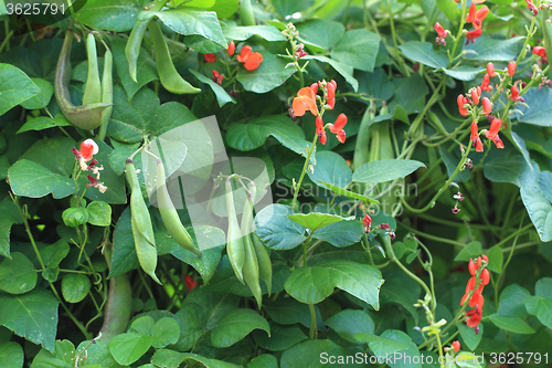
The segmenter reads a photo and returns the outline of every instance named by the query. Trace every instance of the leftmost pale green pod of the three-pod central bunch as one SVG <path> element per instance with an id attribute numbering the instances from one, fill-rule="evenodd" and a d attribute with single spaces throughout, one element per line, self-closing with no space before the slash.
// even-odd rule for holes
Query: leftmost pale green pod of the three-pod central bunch
<path id="1" fill-rule="evenodd" d="M 242 284 L 244 282 L 243 269 L 245 263 L 245 245 L 237 223 L 237 214 L 234 207 L 234 194 L 232 190 L 232 178 L 227 178 L 225 182 L 226 189 L 226 209 L 229 212 L 229 231 L 226 233 L 226 253 L 229 254 L 230 264 L 234 269 L 237 280 Z"/>

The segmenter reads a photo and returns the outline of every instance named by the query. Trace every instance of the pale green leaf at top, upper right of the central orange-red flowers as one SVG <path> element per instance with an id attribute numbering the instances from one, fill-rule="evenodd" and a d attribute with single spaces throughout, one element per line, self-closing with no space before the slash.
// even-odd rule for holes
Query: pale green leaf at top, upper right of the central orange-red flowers
<path id="1" fill-rule="evenodd" d="M 331 51 L 331 57 L 352 67 L 373 72 L 380 35 L 364 29 L 347 31 Z"/>

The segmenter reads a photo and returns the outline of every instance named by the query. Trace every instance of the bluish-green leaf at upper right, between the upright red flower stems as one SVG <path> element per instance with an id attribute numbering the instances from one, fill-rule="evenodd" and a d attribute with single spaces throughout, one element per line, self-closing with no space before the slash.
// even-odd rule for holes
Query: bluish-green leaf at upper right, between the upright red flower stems
<path id="1" fill-rule="evenodd" d="M 518 43 L 523 40 L 523 36 L 511 38 L 508 40 L 495 40 L 484 32 L 477 38 L 475 43 L 468 43 L 464 46 L 467 51 L 466 59 L 478 60 L 484 62 L 489 61 L 512 61 L 518 54 Z"/>

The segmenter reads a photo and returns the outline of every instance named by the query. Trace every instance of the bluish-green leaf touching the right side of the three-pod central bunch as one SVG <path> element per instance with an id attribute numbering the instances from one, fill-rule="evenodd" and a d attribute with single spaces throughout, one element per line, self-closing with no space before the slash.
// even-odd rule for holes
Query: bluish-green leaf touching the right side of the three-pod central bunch
<path id="1" fill-rule="evenodd" d="M 288 218 L 293 213 L 291 207 L 285 204 L 270 204 L 257 213 L 256 233 L 265 245 L 274 250 L 287 250 L 307 239 L 306 229 Z"/>

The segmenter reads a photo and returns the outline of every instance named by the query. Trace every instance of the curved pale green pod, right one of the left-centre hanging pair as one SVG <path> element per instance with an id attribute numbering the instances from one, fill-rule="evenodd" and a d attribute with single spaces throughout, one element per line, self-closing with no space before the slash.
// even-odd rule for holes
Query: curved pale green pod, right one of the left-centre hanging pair
<path id="1" fill-rule="evenodd" d="M 193 254 L 201 256 L 201 252 L 193 245 L 192 236 L 185 231 L 180 218 L 172 204 L 172 201 L 167 190 L 167 183 L 164 180 L 164 168 L 163 161 L 161 159 L 157 160 L 157 200 L 159 204 L 159 213 L 161 213 L 161 219 L 163 220 L 164 227 L 171 234 L 172 239 Z"/>

